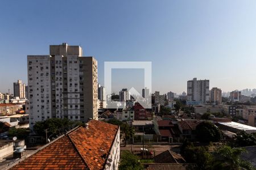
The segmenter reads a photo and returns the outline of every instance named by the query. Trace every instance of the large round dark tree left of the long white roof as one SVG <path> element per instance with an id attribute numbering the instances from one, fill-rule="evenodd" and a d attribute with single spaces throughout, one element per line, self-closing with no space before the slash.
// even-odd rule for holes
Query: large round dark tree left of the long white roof
<path id="1" fill-rule="evenodd" d="M 200 142 L 219 142 L 222 139 L 221 131 L 208 121 L 196 126 L 196 135 Z"/>

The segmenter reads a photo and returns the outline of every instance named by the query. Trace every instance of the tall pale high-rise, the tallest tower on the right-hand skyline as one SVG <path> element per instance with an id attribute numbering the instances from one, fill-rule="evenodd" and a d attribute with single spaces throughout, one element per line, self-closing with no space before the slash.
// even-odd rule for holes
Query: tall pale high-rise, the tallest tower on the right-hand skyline
<path id="1" fill-rule="evenodd" d="M 198 103 L 207 103 L 209 101 L 209 80 L 188 80 L 187 82 L 187 100 Z"/>

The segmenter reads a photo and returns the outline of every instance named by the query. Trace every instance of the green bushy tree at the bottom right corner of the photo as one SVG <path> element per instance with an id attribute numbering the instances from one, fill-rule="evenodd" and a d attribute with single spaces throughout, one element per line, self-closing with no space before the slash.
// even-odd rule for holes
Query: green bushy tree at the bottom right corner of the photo
<path id="1" fill-rule="evenodd" d="M 241 159 L 243 152 L 245 152 L 243 148 L 232 148 L 226 145 L 218 148 L 213 169 L 254 169 L 249 162 Z"/>

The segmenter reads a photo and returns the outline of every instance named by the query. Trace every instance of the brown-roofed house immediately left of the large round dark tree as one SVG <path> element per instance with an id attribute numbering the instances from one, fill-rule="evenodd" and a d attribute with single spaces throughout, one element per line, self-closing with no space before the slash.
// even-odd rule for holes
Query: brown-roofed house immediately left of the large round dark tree
<path id="1" fill-rule="evenodd" d="M 177 123 L 179 130 L 181 132 L 180 138 L 181 139 L 191 139 L 194 140 L 196 138 L 195 130 L 196 126 L 200 124 L 201 121 L 199 120 L 183 120 Z"/>

